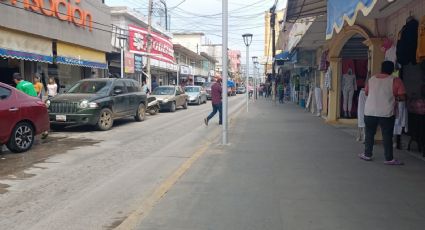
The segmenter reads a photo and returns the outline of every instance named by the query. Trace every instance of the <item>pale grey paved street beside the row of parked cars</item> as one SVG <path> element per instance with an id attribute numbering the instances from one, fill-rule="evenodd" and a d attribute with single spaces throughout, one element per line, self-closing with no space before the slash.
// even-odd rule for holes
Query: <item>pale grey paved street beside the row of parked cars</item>
<path id="1" fill-rule="evenodd" d="M 239 111 L 243 97 L 230 105 Z M 141 123 L 123 120 L 108 132 L 70 129 L 28 153 L 2 155 L 0 229 L 118 226 L 197 149 L 217 142 L 218 118 L 203 124 L 210 110 L 208 103 Z"/>

